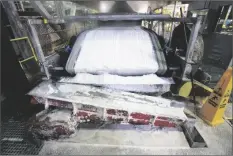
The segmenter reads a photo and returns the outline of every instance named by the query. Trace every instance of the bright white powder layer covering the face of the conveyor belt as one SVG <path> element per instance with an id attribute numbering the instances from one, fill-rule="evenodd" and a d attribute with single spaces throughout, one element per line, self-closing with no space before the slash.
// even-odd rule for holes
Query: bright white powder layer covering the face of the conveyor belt
<path id="1" fill-rule="evenodd" d="M 75 73 L 142 75 L 156 73 L 158 63 L 149 34 L 140 27 L 102 27 L 86 34 L 74 69 Z"/>

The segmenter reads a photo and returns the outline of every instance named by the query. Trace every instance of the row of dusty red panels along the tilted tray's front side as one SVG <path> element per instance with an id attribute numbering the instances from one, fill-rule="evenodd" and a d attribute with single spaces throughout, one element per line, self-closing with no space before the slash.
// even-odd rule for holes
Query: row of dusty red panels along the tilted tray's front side
<path id="1" fill-rule="evenodd" d="M 31 103 L 48 103 L 48 105 L 62 107 L 62 108 L 73 108 L 70 102 L 53 100 L 53 99 L 44 99 L 44 98 L 32 98 Z M 119 123 L 130 123 L 137 125 L 149 125 L 159 127 L 176 127 L 176 123 L 174 119 L 165 117 L 165 116 L 157 116 L 154 117 L 149 114 L 132 112 L 128 113 L 124 110 L 117 109 L 104 109 L 100 107 L 76 104 L 74 109 L 76 109 L 76 116 L 79 122 L 90 122 L 90 121 L 114 121 Z M 105 111 L 105 113 L 104 113 Z M 105 114 L 105 115 L 104 115 Z M 182 122 L 182 121 L 179 121 Z"/>

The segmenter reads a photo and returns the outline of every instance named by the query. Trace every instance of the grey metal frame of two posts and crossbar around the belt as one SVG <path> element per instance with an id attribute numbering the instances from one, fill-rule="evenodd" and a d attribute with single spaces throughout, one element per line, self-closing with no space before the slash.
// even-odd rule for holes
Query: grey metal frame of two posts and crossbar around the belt
<path id="1" fill-rule="evenodd" d="M 195 41 L 198 36 L 199 29 L 201 27 L 201 17 L 198 18 L 172 18 L 170 15 L 162 15 L 162 14 L 126 14 L 126 15 L 109 15 L 109 14 L 91 14 L 86 16 L 74 16 L 74 17 L 66 17 L 64 19 L 46 19 L 46 23 L 50 24 L 64 24 L 75 21 L 85 21 L 85 20 L 102 20 L 102 21 L 122 21 L 122 20 L 158 20 L 158 21 L 171 21 L 171 22 L 191 22 L 194 23 L 192 28 L 192 32 L 189 38 L 188 48 L 186 52 L 185 58 L 185 68 L 182 74 L 182 79 L 187 80 L 186 75 L 191 72 L 190 70 L 190 62 L 191 57 L 193 55 L 193 47 Z M 38 38 L 38 34 L 35 30 L 34 24 L 43 24 L 44 20 L 39 19 L 29 19 L 28 24 L 31 30 L 33 45 L 35 47 L 36 53 L 38 55 L 38 59 L 40 64 L 42 65 L 44 72 L 48 79 L 50 79 L 50 74 L 48 71 L 48 66 L 46 65 L 46 59 L 43 53 L 43 50 L 40 45 L 40 41 Z"/>

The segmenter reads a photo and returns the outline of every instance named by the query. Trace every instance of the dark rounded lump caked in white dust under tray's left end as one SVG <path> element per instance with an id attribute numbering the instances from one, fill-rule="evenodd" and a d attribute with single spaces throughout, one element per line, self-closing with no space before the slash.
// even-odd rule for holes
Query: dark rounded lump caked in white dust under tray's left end
<path id="1" fill-rule="evenodd" d="M 55 109 L 29 125 L 29 133 L 36 139 L 56 140 L 75 133 L 76 121 L 71 110 Z"/>

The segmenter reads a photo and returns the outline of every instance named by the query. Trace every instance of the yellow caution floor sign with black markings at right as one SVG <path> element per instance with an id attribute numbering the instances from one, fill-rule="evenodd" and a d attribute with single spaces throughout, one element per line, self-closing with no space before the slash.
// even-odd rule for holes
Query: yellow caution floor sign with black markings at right
<path id="1" fill-rule="evenodd" d="M 232 67 L 229 67 L 200 111 L 200 117 L 211 126 L 224 122 L 223 116 L 232 91 Z"/>

